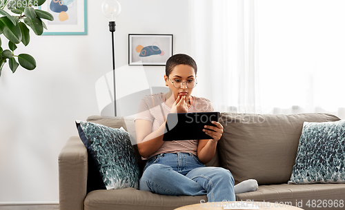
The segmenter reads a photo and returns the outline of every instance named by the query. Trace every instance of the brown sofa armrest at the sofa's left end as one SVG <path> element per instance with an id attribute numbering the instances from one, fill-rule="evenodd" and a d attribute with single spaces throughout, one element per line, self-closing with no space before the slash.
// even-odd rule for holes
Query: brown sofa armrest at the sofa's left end
<path id="1" fill-rule="evenodd" d="M 59 154 L 59 209 L 83 210 L 88 180 L 88 152 L 77 136 Z"/>

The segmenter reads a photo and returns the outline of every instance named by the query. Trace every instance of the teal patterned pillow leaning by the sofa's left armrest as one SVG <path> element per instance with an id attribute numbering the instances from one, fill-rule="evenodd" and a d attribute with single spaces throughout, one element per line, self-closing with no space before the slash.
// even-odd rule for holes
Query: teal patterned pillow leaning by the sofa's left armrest
<path id="1" fill-rule="evenodd" d="M 130 135 L 115 129 L 76 120 L 79 136 L 99 169 L 106 189 L 139 188 L 139 166 Z"/>

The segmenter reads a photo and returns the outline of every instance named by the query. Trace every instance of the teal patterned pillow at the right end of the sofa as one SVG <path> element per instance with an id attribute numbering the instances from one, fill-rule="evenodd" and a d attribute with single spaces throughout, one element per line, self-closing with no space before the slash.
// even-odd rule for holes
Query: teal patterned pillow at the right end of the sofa
<path id="1" fill-rule="evenodd" d="M 303 124 L 288 184 L 345 183 L 345 120 Z"/>

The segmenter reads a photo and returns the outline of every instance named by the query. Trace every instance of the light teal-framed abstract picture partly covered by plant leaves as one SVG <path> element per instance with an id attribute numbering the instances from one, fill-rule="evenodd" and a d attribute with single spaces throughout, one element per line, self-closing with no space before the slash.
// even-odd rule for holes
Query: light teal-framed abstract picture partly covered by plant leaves
<path id="1" fill-rule="evenodd" d="M 54 17 L 54 21 L 42 19 L 48 28 L 42 35 L 88 34 L 86 0 L 47 0 L 39 9 Z"/>

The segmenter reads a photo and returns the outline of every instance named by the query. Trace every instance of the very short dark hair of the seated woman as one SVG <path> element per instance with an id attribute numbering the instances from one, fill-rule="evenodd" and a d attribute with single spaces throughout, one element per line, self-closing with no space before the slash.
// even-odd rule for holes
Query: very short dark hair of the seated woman
<path id="1" fill-rule="evenodd" d="M 169 76 L 175 66 L 184 64 L 193 67 L 195 75 L 197 75 L 197 63 L 187 54 L 174 54 L 166 61 L 166 76 Z"/>

